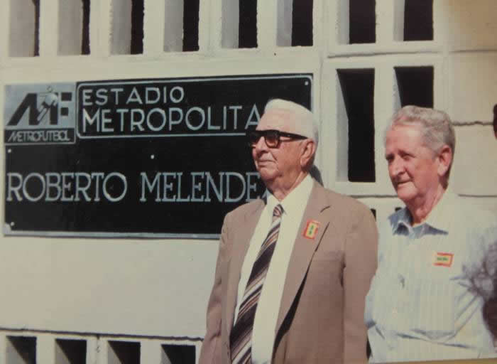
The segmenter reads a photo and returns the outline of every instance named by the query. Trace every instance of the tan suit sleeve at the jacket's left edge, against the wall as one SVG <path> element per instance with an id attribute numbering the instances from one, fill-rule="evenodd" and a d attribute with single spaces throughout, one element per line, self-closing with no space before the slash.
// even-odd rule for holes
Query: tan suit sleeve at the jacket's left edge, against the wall
<path id="1" fill-rule="evenodd" d="M 207 331 L 200 350 L 199 364 L 217 364 L 221 363 L 222 360 L 222 270 L 226 260 L 227 250 L 227 219 L 228 216 L 226 215 L 221 231 L 221 239 L 219 240 L 219 252 L 217 255 L 216 272 L 214 274 L 214 287 L 212 287 L 209 304 L 207 304 Z"/>

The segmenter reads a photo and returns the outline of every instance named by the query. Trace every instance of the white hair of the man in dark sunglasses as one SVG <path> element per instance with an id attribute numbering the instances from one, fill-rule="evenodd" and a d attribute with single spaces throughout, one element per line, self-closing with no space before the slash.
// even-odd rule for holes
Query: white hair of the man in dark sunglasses
<path id="1" fill-rule="evenodd" d="M 304 137 L 312 139 L 317 146 L 320 139 L 319 129 L 314 115 L 309 109 L 295 102 L 282 99 L 269 100 L 266 107 L 264 107 L 264 112 L 266 113 L 271 109 L 281 109 L 291 112 L 297 121 L 295 122 L 295 127 L 298 129 L 298 132 Z"/>

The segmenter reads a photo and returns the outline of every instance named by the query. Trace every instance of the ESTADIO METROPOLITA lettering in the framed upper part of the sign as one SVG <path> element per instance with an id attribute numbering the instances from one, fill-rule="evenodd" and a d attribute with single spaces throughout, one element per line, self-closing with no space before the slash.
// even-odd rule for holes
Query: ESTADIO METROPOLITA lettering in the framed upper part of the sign
<path id="1" fill-rule="evenodd" d="M 181 86 L 84 88 L 81 137 L 243 135 L 261 110 L 250 105 L 195 105 Z"/>

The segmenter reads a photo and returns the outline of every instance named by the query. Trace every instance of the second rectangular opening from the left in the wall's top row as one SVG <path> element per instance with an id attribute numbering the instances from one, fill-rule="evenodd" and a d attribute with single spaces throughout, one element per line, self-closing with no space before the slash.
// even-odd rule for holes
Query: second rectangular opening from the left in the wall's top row
<path id="1" fill-rule="evenodd" d="M 59 55 L 89 54 L 89 1 L 59 0 Z"/>

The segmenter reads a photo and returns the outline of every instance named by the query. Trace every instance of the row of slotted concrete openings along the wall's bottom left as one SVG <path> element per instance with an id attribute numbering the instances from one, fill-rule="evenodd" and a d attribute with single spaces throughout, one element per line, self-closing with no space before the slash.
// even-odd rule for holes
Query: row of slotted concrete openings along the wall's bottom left
<path id="1" fill-rule="evenodd" d="M 3 330 L 2 363 L 194 363 L 201 341 Z"/>

